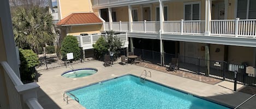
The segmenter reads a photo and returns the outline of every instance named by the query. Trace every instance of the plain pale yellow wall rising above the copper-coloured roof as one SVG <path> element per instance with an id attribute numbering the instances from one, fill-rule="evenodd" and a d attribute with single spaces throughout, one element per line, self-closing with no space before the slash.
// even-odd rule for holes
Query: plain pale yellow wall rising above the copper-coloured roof
<path id="1" fill-rule="evenodd" d="M 58 1 L 58 8 L 60 9 L 61 19 L 68 16 L 72 12 L 92 12 L 92 3 L 90 0 L 73 0 L 73 1 L 57 0 L 57 1 Z"/>

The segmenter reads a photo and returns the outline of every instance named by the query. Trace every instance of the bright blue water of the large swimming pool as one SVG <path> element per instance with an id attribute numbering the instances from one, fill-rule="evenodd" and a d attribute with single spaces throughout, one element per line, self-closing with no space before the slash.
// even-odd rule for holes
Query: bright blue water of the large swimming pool
<path id="1" fill-rule="evenodd" d="M 79 88 L 70 93 L 78 97 L 79 103 L 87 109 L 228 108 L 150 81 L 142 84 L 138 77 L 132 75 Z"/>

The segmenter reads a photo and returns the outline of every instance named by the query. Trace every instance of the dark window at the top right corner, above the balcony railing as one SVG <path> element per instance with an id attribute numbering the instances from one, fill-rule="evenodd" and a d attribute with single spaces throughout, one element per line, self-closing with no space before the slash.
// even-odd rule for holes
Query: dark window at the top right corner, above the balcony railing
<path id="1" fill-rule="evenodd" d="M 245 19 L 256 18 L 256 1 L 255 0 L 237 0 L 236 17 Z"/>

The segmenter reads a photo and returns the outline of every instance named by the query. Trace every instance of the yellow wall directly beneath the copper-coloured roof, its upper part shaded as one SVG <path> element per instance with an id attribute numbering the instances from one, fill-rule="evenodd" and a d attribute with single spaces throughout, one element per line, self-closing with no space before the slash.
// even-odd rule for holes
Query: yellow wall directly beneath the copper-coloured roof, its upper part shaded
<path id="1" fill-rule="evenodd" d="M 80 35 L 81 33 L 87 33 L 87 34 L 100 33 L 101 28 L 102 28 L 102 24 L 72 26 L 71 30 L 68 30 L 67 34 Z"/>

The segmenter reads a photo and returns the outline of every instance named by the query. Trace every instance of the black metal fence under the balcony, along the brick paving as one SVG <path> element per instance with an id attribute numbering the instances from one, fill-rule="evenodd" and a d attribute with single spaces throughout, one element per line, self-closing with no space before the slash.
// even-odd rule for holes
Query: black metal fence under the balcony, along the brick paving
<path id="1" fill-rule="evenodd" d="M 153 64 L 159 65 L 161 61 L 161 53 L 159 52 L 134 49 L 134 54 L 141 56 L 143 61 L 148 61 Z M 234 72 L 237 71 L 237 82 L 256 87 L 255 74 L 249 74 L 246 70 L 248 68 L 246 65 L 163 53 L 164 66 L 168 67 L 172 58 L 178 58 L 179 70 L 228 81 L 234 81 Z"/>

